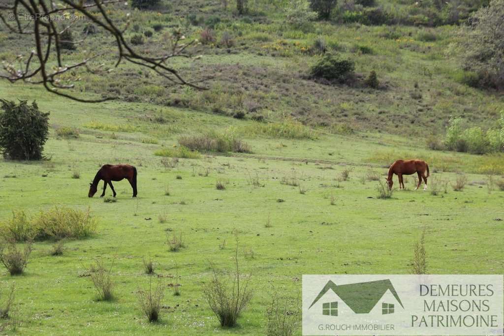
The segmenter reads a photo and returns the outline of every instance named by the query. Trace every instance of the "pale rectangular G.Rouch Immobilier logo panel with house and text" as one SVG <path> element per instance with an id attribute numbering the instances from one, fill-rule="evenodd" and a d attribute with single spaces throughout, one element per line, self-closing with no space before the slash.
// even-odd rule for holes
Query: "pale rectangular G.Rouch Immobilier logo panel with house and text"
<path id="1" fill-rule="evenodd" d="M 304 275 L 303 334 L 503 335 L 503 276 Z"/>

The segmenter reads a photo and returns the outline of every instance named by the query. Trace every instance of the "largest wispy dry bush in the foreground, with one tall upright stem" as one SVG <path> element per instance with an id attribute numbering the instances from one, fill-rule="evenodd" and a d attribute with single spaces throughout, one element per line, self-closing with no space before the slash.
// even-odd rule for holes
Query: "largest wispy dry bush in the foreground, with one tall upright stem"
<path id="1" fill-rule="evenodd" d="M 253 292 L 248 287 L 250 276 L 246 277 L 244 282 L 240 279 L 242 276 L 238 267 L 238 246 L 236 246 L 234 258 L 236 270 L 230 283 L 222 280 L 213 264 L 210 264 L 213 271 L 212 282 L 205 286 L 204 291 L 210 309 L 219 319 L 221 326 L 226 327 L 236 324 L 236 320 L 253 296 Z"/>

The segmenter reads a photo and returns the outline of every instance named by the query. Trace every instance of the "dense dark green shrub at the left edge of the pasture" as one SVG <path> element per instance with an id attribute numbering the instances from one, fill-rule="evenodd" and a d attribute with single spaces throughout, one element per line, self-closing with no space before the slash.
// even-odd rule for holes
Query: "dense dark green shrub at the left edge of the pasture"
<path id="1" fill-rule="evenodd" d="M 35 102 L 19 104 L 1 99 L 0 152 L 12 160 L 40 160 L 49 135 L 49 113 L 38 110 Z"/>

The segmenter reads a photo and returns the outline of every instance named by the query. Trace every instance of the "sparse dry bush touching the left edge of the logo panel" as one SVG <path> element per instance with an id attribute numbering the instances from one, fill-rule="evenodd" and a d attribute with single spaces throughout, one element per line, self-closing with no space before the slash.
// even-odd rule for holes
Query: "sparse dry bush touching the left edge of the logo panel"
<path id="1" fill-rule="evenodd" d="M 266 309 L 266 334 L 268 336 L 292 336 L 300 320 L 299 302 L 273 293 L 273 300 Z"/>

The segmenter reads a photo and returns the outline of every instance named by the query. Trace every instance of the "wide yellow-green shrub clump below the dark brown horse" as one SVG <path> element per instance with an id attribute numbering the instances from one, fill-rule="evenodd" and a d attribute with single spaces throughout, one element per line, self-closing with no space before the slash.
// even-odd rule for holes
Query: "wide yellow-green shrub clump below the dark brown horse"
<path id="1" fill-rule="evenodd" d="M 84 238 L 96 232 L 97 220 L 86 211 L 54 207 L 40 212 L 32 222 L 36 229 L 34 239 Z"/>

